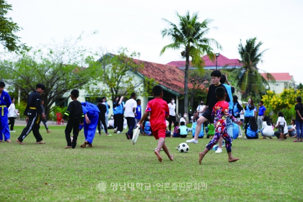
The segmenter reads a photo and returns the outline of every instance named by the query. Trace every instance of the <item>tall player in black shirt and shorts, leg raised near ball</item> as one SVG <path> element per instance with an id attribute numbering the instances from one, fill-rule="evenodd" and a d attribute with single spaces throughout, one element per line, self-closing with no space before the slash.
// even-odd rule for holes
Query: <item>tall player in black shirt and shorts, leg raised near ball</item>
<path id="1" fill-rule="evenodd" d="M 201 124 L 203 124 L 204 122 L 208 121 L 208 120 L 212 120 L 212 110 L 214 108 L 214 106 L 217 104 L 217 102 L 219 101 L 219 99 L 216 96 L 216 89 L 218 87 L 223 87 L 226 91 L 227 94 L 227 90 L 225 88 L 225 86 L 220 83 L 220 79 L 221 79 L 221 72 L 219 70 L 215 70 L 211 73 L 211 77 L 212 77 L 212 85 L 210 85 L 209 87 L 209 91 L 207 93 L 207 101 L 206 101 L 206 108 L 204 108 L 204 113 L 202 114 L 202 116 L 199 117 L 199 119 L 197 120 L 197 126 L 196 126 L 196 130 L 195 130 L 195 135 L 194 138 L 191 140 L 186 140 L 187 143 L 198 143 L 198 136 L 199 133 L 201 131 Z M 226 102 L 230 102 L 229 97 L 226 97 Z"/>

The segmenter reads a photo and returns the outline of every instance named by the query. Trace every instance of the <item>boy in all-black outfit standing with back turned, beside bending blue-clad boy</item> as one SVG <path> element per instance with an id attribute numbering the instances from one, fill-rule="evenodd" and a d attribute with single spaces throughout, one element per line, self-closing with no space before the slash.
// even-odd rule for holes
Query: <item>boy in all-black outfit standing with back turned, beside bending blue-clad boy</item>
<path id="1" fill-rule="evenodd" d="M 77 145 L 77 138 L 79 134 L 79 124 L 83 125 L 84 114 L 82 111 L 82 105 L 77 100 L 79 97 L 79 90 L 74 89 L 71 92 L 72 102 L 67 107 L 67 111 L 64 113 L 63 119 L 61 122 L 64 123 L 64 120 L 69 117 L 65 128 L 65 138 L 67 141 L 67 146 L 65 148 L 75 148 Z M 73 142 L 71 141 L 71 132 L 73 130 Z"/>

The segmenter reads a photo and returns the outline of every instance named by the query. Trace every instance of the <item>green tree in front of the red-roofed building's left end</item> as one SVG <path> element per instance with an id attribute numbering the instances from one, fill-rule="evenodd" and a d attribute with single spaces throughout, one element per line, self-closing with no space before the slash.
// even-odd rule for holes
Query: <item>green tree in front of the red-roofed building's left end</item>
<path id="1" fill-rule="evenodd" d="M 157 84 L 155 79 L 146 78 L 139 73 L 143 70 L 143 63 L 133 59 L 138 53 L 127 55 L 127 49 L 121 48 L 118 54 L 105 54 L 92 64 L 96 69 L 95 80 L 90 80 L 85 89 L 92 98 L 102 95 L 114 99 L 118 95 L 129 95 L 133 91 L 137 95 L 150 95 L 150 89 Z M 139 74 L 143 79 L 136 79 Z M 94 86 L 94 87 L 93 87 Z"/>

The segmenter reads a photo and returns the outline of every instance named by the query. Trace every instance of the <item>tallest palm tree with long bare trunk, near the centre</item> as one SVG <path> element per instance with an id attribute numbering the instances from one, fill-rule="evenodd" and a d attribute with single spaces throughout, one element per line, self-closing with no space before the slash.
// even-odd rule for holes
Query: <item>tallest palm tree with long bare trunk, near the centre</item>
<path id="1" fill-rule="evenodd" d="M 166 51 L 166 48 L 181 49 L 181 57 L 186 59 L 185 62 L 185 75 L 184 75 L 184 112 L 188 113 L 188 68 L 189 68 L 189 57 L 191 57 L 191 65 L 203 68 L 204 60 L 201 58 L 207 54 L 211 60 L 215 59 L 213 48 L 211 45 L 216 45 L 218 49 L 221 49 L 221 45 L 212 38 L 206 38 L 210 31 L 208 27 L 212 22 L 211 19 L 206 19 L 203 22 L 198 22 L 198 15 L 194 13 L 192 16 L 187 11 L 185 16 L 180 16 L 179 24 L 176 25 L 166 19 L 165 20 L 169 27 L 163 29 L 162 36 L 168 36 L 172 39 L 173 43 L 164 46 L 161 50 L 160 55 Z"/>

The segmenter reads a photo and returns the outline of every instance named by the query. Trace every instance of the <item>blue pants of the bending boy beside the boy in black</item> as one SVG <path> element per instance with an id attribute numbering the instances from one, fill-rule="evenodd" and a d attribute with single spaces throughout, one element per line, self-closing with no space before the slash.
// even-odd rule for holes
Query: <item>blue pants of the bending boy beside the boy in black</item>
<path id="1" fill-rule="evenodd" d="M 94 138 L 94 135 L 96 133 L 98 120 L 99 120 L 99 114 L 97 112 L 87 112 L 87 117 L 90 120 L 90 124 L 87 124 L 84 119 L 84 137 L 85 141 L 88 141 L 88 143 L 92 143 L 92 140 Z"/>

